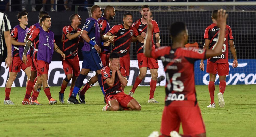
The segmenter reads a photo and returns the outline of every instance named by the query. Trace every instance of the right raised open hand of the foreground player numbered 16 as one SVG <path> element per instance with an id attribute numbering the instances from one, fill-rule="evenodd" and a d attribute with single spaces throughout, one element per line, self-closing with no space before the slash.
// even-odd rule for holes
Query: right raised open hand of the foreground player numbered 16
<path id="1" fill-rule="evenodd" d="M 228 14 L 226 14 L 226 10 L 223 10 L 223 9 L 218 10 L 217 16 L 218 16 L 217 20 L 214 19 L 213 21 L 216 23 L 216 25 L 219 28 L 225 28 L 227 17 L 228 17 Z"/>

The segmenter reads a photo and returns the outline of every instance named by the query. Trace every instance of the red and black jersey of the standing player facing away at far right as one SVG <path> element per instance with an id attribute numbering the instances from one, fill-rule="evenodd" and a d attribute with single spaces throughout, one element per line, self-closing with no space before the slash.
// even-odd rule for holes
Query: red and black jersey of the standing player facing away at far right
<path id="1" fill-rule="evenodd" d="M 220 28 L 213 23 L 210 26 L 208 26 L 205 29 L 205 35 L 204 39 L 209 39 L 210 44 L 209 44 L 209 49 L 213 49 L 216 46 L 216 43 L 218 41 L 218 35 L 219 35 Z M 222 47 L 222 53 L 219 56 L 215 56 L 212 58 L 209 58 L 208 60 L 216 63 L 227 63 L 228 62 L 228 47 L 229 47 L 229 40 L 233 39 L 233 34 L 230 26 L 226 25 L 225 28 L 225 37 L 224 37 L 224 44 Z"/>

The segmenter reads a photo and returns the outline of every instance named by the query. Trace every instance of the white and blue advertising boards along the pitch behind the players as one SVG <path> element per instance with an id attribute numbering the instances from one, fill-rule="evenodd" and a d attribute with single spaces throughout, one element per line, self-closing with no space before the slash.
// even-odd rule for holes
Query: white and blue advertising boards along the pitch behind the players
<path id="1" fill-rule="evenodd" d="M 229 75 L 227 75 L 226 81 L 227 85 L 236 85 L 236 84 L 256 84 L 256 59 L 238 59 L 238 67 L 232 68 L 232 59 L 229 60 Z M 158 80 L 157 86 L 165 86 L 165 72 L 161 60 L 158 60 L 159 69 L 158 69 Z M 130 76 L 128 79 L 128 86 L 134 84 L 136 77 L 139 74 L 138 61 L 130 61 Z M 205 70 L 206 70 L 206 60 L 204 61 Z M 195 71 L 195 84 L 196 85 L 208 85 L 209 74 L 206 71 L 201 71 L 199 69 L 200 60 L 195 62 L 194 71 Z M 82 61 L 80 61 L 80 66 L 82 66 Z M 4 62 L 1 64 L 0 71 L 0 87 L 5 87 L 5 83 L 9 77 L 9 68 L 5 69 Z M 84 84 L 88 81 L 89 78 L 94 76 L 95 72 L 89 72 L 88 77 L 84 80 Z M 61 61 L 53 61 L 49 66 L 49 86 L 61 86 L 63 78 L 65 78 L 64 70 L 62 67 Z M 216 84 L 219 84 L 218 75 L 216 75 Z M 150 84 L 150 71 L 147 71 L 146 77 L 142 80 L 140 86 L 149 86 Z M 12 87 L 25 87 L 27 81 L 27 76 L 23 71 L 20 71 L 12 85 Z M 70 83 L 68 84 L 70 86 Z"/>

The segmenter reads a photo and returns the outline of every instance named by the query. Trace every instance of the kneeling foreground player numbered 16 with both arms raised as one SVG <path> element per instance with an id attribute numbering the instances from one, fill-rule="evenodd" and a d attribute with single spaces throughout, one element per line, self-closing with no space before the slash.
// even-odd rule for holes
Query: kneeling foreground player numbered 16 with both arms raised
<path id="1" fill-rule="evenodd" d="M 224 39 L 225 36 L 227 18 L 225 13 L 226 11 L 222 9 L 218 12 L 216 24 L 220 28 L 219 39 Z M 150 15 L 149 12 L 148 16 Z M 170 28 L 172 46 L 151 49 L 153 24 L 149 17 L 144 53 L 146 57 L 160 58 L 166 73 L 166 97 L 161 136 L 177 134 L 180 123 L 182 123 L 184 136 L 206 136 L 205 125 L 196 99 L 194 62 L 220 55 L 224 41 L 219 40 L 214 49 L 184 48 L 188 40 L 188 30 L 185 23 L 176 22 Z"/>

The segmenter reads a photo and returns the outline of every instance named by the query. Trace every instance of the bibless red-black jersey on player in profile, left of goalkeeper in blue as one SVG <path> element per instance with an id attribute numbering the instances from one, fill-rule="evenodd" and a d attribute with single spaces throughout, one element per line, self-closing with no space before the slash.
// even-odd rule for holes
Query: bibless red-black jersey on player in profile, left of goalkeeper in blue
<path id="1" fill-rule="evenodd" d="M 69 40 L 66 35 L 67 34 L 75 34 L 78 31 L 81 31 L 80 28 L 77 28 L 77 30 L 75 30 L 71 25 L 65 26 L 62 29 L 63 32 L 63 45 L 62 45 L 62 52 L 66 55 L 67 59 L 73 59 L 75 56 L 77 55 L 77 50 L 78 50 L 78 43 L 80 40 L 80 35 L 72 40 Z"/>

